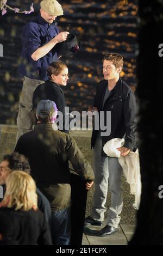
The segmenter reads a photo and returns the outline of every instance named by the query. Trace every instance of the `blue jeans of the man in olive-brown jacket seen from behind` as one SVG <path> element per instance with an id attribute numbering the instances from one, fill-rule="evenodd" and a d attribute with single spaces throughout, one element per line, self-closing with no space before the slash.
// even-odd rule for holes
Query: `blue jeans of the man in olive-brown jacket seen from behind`
<path id="1" fill-rule="evenodd" d="M 53 245 L 70 245 L 71 221 L 70 208 L 52 212 Z"/>

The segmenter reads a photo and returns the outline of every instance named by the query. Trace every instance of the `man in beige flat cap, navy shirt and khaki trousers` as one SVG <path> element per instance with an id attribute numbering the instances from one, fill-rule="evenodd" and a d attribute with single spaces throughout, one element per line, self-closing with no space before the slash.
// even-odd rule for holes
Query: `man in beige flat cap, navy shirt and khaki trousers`
<path id="1" fill-rule="evenodd" d="M 57 16 L 64 15 L 56 0 L 43 0 L 40 14 L 28 22 L 22 29 L 22 51 L 18 73 L 24 77 L 17 117 L 17 139 L 32 130 L 32 97 L 39 84 L 46 81 L 46 70 L 60 57 L 55 45 L 65 41 L 69 32 L 59 33 Z"/>

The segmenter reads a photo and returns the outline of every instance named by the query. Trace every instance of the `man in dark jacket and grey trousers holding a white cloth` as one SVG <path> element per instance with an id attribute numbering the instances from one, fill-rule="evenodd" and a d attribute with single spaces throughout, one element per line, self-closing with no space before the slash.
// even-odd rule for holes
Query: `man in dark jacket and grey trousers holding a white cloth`
<path id="1" fill-rule="evenodd" d="M 111 235 L 118 231 L 117 226 L 122 211 L 122 168 L 117 157 L 108 157 L 103 146 L 112 138 L 123 138 L 125 142 L 121 156 L 136 151 L 135 115 L 136 100 L 134 92 L 120 78 L 123 58 L 120 54 L 109 53 L 103 60 L 104 80 L 99 82 L 96 90 L 93 110 L 99 114 L 99 129 L 93 127 L 91 147 L 94 149 L 95 194 L 91 215 L 86 217 L 85 225 L 102 225 L 105 203 L 108 194 L 108 183 L 111 191 L 111 205 L 108 210 L 106 225 L 98 232 L 99 236 Z M 102 112 L 104 118 L 102 118 Z M 107 114 L 111 119 L 108 122 Z M 110 129 L 109 129 L 110 126 Z M 110 132 L 108 133 L 107 130 Z"/>

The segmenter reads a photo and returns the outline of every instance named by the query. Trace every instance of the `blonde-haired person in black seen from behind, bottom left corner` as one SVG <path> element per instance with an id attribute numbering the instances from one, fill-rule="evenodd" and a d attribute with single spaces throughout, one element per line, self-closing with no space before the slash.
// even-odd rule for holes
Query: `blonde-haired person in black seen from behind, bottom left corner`
<path id="1" fill-rule="evenodd" d="M 51 233 L 43 214 L 37 208 L 33 178 L 22 171 L 11 172 L 6 179 L 7 190 L 0 204 L 0 214 L 12 220 L 10 237 L 18 245 L 52 245 Z"/>

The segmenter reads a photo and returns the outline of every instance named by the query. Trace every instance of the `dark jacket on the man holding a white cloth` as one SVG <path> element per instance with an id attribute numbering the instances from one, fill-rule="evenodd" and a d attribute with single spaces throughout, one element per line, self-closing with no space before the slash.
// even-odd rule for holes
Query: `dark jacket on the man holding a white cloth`
<path id="1" fill-rule="evenodd" d="M 111 125 L 110 135 L 102 136 L 102 156 L 106 156 L 103 151 L 103 146 L 112 138 L 123 138 L 125 136 L 125 143 L 123 147 L 130 149 L 131 151 L 136 151 L 136 139 L 135 139 L 135 117 L 136 117 L 136 99 L 133 90 L 121 80 L 121 78 L 116 83 L 116 86 L 111 90 L 108 99 L 103 105 L 103 99 L 105 95 L 106 87 L 108 86 L 108 81 L 102 80 L 99 82 L 95 101 L 93 106 L 98 108 L 99 119 L 101 117 L 101 111 L 104 111 L 104 125 L 106 125 L 106 112 L 111 113 Z M 109 130 L 109 129 L 108 129 Z M 95 126 L 92 131 L 91 138 L 91 148 L 94 147 L 98 131 L 95 130 Z"/>

